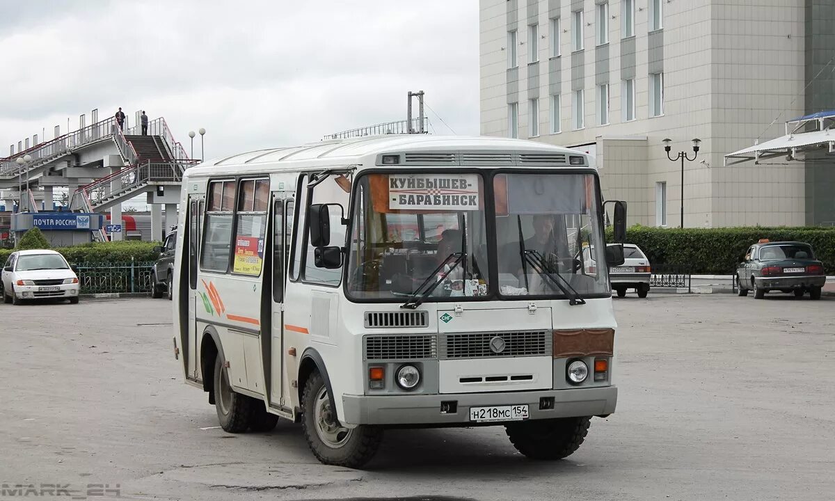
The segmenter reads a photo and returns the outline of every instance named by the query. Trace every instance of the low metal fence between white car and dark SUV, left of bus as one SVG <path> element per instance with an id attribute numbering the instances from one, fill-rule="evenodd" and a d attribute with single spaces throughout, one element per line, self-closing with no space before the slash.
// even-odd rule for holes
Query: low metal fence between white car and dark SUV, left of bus
<path id="1" fill-rule="evenodd" d="M 153 267 L 154 261 L 76 265 L 81 294 L 150 293 L 154 286 Z"/>

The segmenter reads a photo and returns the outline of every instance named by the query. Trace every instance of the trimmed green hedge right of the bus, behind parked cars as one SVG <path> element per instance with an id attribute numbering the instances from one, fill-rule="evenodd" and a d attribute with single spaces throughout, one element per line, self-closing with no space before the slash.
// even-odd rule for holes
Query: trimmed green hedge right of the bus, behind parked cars
<path id="1" fill-rule="evenodd" d="M 693 274 L 731 275 L 751 244 L 797 240 L 812 245 L 827 274 L 835 274 L 835 228 L 650 228 L 626 230 L 626 243 L 638 245 L 652 265 L 681 267 Z M 606 241 L 612 241 L 611 229 Z"/>

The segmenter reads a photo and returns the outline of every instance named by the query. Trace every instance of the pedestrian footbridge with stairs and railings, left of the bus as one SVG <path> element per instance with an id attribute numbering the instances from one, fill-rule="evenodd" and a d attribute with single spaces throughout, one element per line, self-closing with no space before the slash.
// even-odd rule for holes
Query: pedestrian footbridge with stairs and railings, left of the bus
<path id="1" fill-rule="evenodd" d="M 195 163 L 165 119 L 149 121 L 147 134 L 139 134 L 139 127 L 123 130 L 111 117 L 0 158 L 0 200 L 6 210 L 35 212 L 41 205 L 37 200 L 52 210 L 54 187 L 66 187 L 70 210 L 110 210 L 111 220 L 121 220 L 122 202 L 147 193 L 157 226 L 154 239 L 159 239 L 176 220 L 180 181 Z M 169 225 L 162 224 L 162 205 Z M 95 237 L 110 238 L 104 230 Z"/>

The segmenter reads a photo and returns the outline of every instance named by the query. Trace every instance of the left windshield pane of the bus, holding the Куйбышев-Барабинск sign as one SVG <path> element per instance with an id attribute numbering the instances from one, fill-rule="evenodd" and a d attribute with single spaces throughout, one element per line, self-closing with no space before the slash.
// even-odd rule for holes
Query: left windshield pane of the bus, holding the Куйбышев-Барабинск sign
<path id="1" fill-rule="evenodd" d="M 348 294 L 427 301 L 488 293 L 484 181 L 477 174 L 372 174 L 357 186 Z"/>

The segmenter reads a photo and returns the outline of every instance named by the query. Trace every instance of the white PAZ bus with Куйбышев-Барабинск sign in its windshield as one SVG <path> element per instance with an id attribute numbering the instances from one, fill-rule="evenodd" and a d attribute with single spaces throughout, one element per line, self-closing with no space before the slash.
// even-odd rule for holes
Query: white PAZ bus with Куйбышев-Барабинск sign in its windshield
<path id="1" fill-rule="evenodd" d="M 225 431 L 284 417 L 357 468 L 386 428 L 502 425 L 557 459 L 615 411 L 611 289 L 583 248 L 622 246 L 586 154 L 384 135 L 208 161 L 183 187 L 175 355 Z"/>

